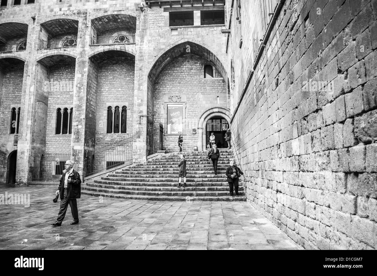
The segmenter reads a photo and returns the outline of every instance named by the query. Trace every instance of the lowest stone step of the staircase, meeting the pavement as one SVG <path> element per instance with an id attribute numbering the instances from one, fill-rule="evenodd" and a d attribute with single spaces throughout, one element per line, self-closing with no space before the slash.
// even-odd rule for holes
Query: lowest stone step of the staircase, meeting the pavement
<path id="1" fill-rule="evenodd" d="M 150 195 L 125 195 L 125 194 L 112 194 L 109 192 L 95 192 L 95 191 L 81 191 L 82 195 L 90 195 L 94 197 L 109 197 L 109 198 L 122 198 L 122 199 L 135 199 L 135 200 L 151 200 L 151 201 L 246 201 L 245 196 L 231 197 L 231 196 L 150 196 Z"/>

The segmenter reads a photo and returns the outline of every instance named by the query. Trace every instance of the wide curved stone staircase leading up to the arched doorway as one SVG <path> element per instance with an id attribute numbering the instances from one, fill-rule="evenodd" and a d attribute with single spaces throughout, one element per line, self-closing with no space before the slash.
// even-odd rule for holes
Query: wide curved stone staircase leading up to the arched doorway
<path id="1" fill-rule="evenodd" d="M 245 201 L 243 186 L 239 186 L 238 197 L 229 194 L 225 171 L 234 158 L 233 151 L 220 151 L 217 175 L 211 160 L 207 159 L 207 151 L 183 152 L 187 170 L 185 188 L 178 188 L 181 153 L 172 152 L 111 172 L 100 180 L 89 180 L 81 185 L 81 194 L 161 201 Z"/>

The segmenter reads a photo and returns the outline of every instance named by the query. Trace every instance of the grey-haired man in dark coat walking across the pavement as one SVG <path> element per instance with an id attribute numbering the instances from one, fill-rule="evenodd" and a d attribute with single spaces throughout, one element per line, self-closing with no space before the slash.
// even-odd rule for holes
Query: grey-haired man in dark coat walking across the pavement
<path id="1" fill-rule="evenodd" d="M 67 160 L 66 169 L 63 171 L 63 175 L 60 178 L 60 185 L 55 192 L 56 195 L 60 194 L 60 210 L 58 218 L 52 226 L 61 226 L 62 221 L 67 212 L 68 203 L 72 212 L 73 221 L 71 224 L 78 223 L 78 210 L 77 210 L 77 198 L 81 197 L 81 179 L 80 174 L 73 169 L 74 162 Z"/>

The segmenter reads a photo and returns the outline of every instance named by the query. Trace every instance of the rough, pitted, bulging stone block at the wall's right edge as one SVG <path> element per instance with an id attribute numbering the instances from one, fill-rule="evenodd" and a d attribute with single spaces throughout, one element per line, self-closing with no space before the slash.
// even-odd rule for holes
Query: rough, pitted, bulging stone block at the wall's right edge
<path id="1" fill-rule="evenodd" d="M 377 110 L 355 117 L 355 136 L 365 144 L 377 140 Z"/>

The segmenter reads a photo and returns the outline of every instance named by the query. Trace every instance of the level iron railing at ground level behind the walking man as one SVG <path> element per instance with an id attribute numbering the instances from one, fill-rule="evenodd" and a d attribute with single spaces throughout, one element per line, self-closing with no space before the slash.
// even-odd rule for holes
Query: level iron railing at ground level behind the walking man
<path id="1" fill-rule="evenodd" d="M 48 152 L 34 156 L 32 181 L 59 181 L 65 169 L 65 163 L 70 159 L 70 152 Z"/>

